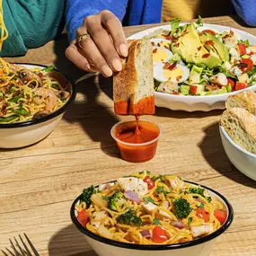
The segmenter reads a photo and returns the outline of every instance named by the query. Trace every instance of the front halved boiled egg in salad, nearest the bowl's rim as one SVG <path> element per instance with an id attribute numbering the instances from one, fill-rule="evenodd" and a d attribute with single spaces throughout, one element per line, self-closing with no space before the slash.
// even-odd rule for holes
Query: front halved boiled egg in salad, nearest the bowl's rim
<path id="1" fill-rule="evenodd" d="M 180 64 L 162 64 L 154 66 L 154 79 L 159 82 L 171 81 L 182 83 L 188 80 L 189 76 L 190 69 L 187 66 Z"/>

